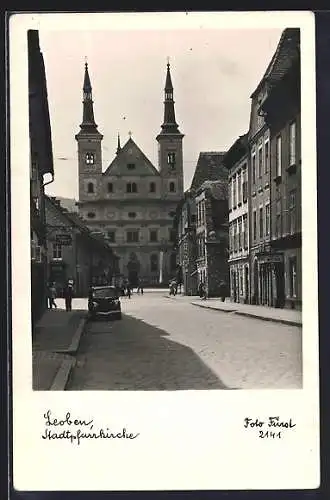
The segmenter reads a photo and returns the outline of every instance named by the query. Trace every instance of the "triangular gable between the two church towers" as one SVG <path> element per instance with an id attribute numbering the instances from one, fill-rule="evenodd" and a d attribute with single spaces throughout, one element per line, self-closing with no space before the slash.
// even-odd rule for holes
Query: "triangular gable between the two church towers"
<path id="1" fill-rule="evenodd" d="M 159 175 L 158 170 L 151 161 L 130 138 L 124 147 L 119 150 L 117 156 L 110 163 L 104 175 L 124 176 L 151 176 Z"/>

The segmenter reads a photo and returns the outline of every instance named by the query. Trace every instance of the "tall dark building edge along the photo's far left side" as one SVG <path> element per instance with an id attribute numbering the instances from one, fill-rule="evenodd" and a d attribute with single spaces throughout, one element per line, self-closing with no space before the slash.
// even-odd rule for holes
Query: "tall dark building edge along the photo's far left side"
<path id="1" fill-rule="evenodd" d="M 30 136 L 31 313 L 32 323 L 47 308 L 45 185 L 54 180 L 45 66 L 39 33 L 28 31 Z M 50 179 L 47 179 L 50 177 Z"/>

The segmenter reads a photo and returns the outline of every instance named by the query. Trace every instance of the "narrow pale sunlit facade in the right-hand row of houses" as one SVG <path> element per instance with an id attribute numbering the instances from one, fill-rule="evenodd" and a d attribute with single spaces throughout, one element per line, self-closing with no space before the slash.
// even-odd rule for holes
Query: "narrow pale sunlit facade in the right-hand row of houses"
<path id="1" fill-rule="evenodd" d="M 228 168 L 230 298 L 250 302 L 249 196 L 247 134 L 239 137 L 225 156 Z"/>

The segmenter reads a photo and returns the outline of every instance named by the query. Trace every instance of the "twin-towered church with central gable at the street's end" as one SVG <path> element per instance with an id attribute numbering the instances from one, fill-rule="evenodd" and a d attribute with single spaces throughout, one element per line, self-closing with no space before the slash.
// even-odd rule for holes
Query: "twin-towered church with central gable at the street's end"
<path id="1" fill-rule="evenodd" d="M 175 119 L 173 85 L 167 64 L 164 122 L 157 135 L 158 168 L 130 136 L 102 168 L 102 139 L 94 119 L 92 87 L 85 64 L 83 121 L 78 143 L 79 214 L 102 233 L 120 258 L 119 270 L 133 286 L 164 284 L 175 276 L 173 219 L 183 198 L 183 149 Z"/>

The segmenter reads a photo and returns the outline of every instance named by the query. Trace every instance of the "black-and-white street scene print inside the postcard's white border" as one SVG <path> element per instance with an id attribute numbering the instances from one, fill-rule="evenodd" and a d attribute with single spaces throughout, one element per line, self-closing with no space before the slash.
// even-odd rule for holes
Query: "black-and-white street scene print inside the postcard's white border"
<path id="1" fill-rule="evenodd" d="M 301 388 L 299 28 L 27 36 L 34 388 Z"/>

